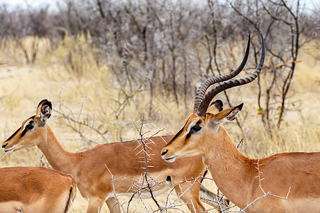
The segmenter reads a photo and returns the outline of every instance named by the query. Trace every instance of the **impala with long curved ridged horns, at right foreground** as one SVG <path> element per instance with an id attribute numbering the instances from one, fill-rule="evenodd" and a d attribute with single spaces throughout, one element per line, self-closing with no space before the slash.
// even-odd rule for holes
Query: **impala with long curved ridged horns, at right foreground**
<path id="1" fill-rule="evenodd" d="M 262 37 L 262 55 L 252 75 L 230 80 L 240 72 L 235 70 L 229 75 L 204 81 L 198 88 L 193 114 L 174 139 L 164 146 L 162 158 L 173 162 L 178 158 L 202 155 L 203 163 L 208 165 L 221 192 L 245 212 L 320 212 L 319 152 L 247 158 L 238 151 L 223 127 L 224 122 L 235 119 L 243 104 L 223 110 L 223 103 L 217 100 L 209 107 L 219 92 L 255 80 L 264 60 Z M 210 85 L 218 82 L 221 83 L 206 93 Z"/>

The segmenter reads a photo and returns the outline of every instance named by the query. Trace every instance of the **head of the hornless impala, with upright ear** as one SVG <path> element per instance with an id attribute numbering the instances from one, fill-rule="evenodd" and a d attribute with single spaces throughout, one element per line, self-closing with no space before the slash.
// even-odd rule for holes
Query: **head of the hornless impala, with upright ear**
<path id="1" fill-rule="evenodd" d="M 6 153 L 18 151 L 21 148 L 37 146 L 43 141 L 43 131 L 46 131 L 46 122 L 51 116 L 52 104 L 44 99 L 38 104 L 36 115 L 22 122 L 21 127 L 4 143 L 2 149 Z"/>

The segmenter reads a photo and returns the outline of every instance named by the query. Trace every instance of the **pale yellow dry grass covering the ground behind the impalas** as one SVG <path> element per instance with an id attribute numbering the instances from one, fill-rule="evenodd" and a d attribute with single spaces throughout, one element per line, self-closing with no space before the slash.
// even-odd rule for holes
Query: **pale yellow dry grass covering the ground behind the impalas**
<path id="1" fill-rule="evenodd" d="M 81 38 L 79 38 L 81 39 Z M 71 43 L 71 42 L 70 42 Z M 27 45 L 27 42 L 26 42 Z M 72 43 L 70 46 L 75 46 Z M 139 92 L 132 97 L 129 105 L 125 107 L 118 119 L 114 116 L 114 100 L 123 99 L 119 96 L 119 86 L 114 82 L 114 76 L 108 67 L 97 67 L 93 60 L 94 55 L 89 58 L 76 58 L 75 64 L 85 62 L 85 65 L 78 67 L 81 76 L 70 71 L 68 62 L 63 57 L 62 46 L 54 53 L 48 55 L 46 48 L 48 41 L 43 40 L 40 45 L 41 54 L 38 62 L 34 65 L 25 65 L 22 54 L 12 50 L 9 43 L 6 50 L 0 50 L 0 58 L 8 62 L 0 68 L 0 122 L 3 128 L 0 130 L 0 138 L 8 138 L 18 128 L 24 119 L 35 114 L 38 102 L 41 99 L 49 99 L 53 102 L 53 116 L 50 118 L 50 126 L 55 132 L 58 140 L 68 151 L 78 151 L 82 148 L 95 146 L 95 143 L 105 143 L 97 133 L 84 130 L 85 135 L 95 143 L 87 143 L 75 131 L 65 127 L 68 121 L 58 116 L 60 103 L 72 109 L 73 114 L 82 114 L 80 119 L 95 121 L 95 125 L 102 125 L 108 130 L 105 134 L 107 141 L 126 141 L 137 137 L 137 131 L 132 126 L 131 120 L 137 120 L 144 113 L 149 104 L 149 93 Z M 77 46 L 77 48 L 85 49 Z M 316 51 L 316 50 L 315 50 Z M 95 50 L 92 49 L 92 53 Z M 257 114 L 257 91 L 256 84 L 252 83 L 241 89 L 233 89 L 229 92 L 232 103 L 245 103 L 240 119 L 245 119 L 242 135 L 238 126 L 234 123 L 227 124 L 230 135 L 235 143 L 240 138 L 244 139 L 242 151 L 250 157 L 263 157 L 267 153 L 280 153 L 284 151 L 320 151 L 320 70 L 319 62 L 315 61 L 306 53 L 302 52 L 300 57 L 303 62 L 297 65 L 297 73 L 292 85 L 290 94 L 290 105 L 287 114 L 284 116 L 282 129 L 274 130 L 272 138 L 262 126 L 260 116 Z M 88 68 L 90 67 L 90 69 Z M 86 70 L 86 72 L 84 72 Z M 89 71 L 90 72 L 89 72 Z M 253 91 L 253 92 L 252 92 Z M 223 99 L 223 95 L 218 96 Z M 161 92 L 156 93 L 154 99 L 155 111 L 148 126 L 152 131 L 166 127 L 168 133 L 174 134 L 183 125 L 183 119 L 193 109 L 193 99 L 187 110 L 184 107 L 177 107 L 174 102 L 164 100 Z M 82 107 L 83 104 L 83 107 Z M 66 108 L 60 111 L 68 112 Z M 45 160 L 37 148 L 29 148 L 17 151 L 11 155 L 0 154 L 1 167 L 15 165 L 40 165 Z M 212 185 L 212 182 L 206 182 Z M 160 202 L 164 202 L 162 196 Z M 128 201 L 127 197 L 121 201 Z M 149 203 L 152 203 L 149 200 Z M 84 212 L 87 202 L 82 199 L 80 193 L 75 200 L 73 212 Z M 134 201 L 132 211 L 137 208 L 143 211 L 139 201 Z M 102 212 L 108 212 L 104 207 Z"/>

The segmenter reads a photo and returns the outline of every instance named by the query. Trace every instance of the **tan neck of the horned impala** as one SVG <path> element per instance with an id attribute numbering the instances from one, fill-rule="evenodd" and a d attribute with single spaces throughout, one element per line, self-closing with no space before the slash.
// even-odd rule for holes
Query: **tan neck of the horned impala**
<path id="1" fill-rule="evenodd" d="M 250 171 L 254 171 L 254 160 L 238 151 L 223 126 L 218 134 L 219 140 L 213 135 L 206 137 L 203 163 L 209 165 L 213 180 L 225 197 L 243 208 L 250 200 L 250 185 L 255 178 Z"/>

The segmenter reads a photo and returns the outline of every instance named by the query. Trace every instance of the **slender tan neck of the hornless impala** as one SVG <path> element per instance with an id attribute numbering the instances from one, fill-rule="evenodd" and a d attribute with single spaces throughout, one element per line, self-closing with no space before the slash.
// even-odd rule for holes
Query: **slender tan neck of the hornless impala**
<path id="1" fill-rule="evenodd" d="M 50 126 L 47 126 L 44 134 L 43 140 L 38 143 L 38 148 L 46 156 L 50 165 L 55 170 L 74 175 L 73 170 L 75 169 L 78 154 L 66 151 L 55 137 Z"/>

